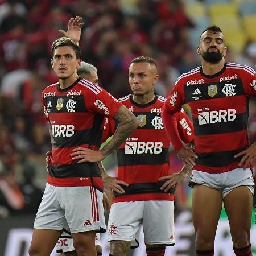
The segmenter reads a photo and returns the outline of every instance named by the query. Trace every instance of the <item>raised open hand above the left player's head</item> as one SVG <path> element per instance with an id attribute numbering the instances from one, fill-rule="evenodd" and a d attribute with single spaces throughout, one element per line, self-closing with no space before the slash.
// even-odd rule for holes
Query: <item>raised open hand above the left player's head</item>
<path id="1" fill-rule="evenodd" d="M 84 22 L 82 22 L 82 18 L 80 16 L 76 16 L 76 18 L 69 19 L 68 22 L 68 31 L 59 30 L 64 36 L 72 39 L 75 43 L 79 43 L 81 36 L 81 28 L 84 26 Z"/>

